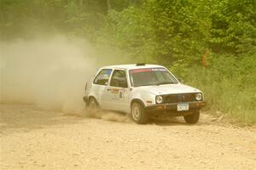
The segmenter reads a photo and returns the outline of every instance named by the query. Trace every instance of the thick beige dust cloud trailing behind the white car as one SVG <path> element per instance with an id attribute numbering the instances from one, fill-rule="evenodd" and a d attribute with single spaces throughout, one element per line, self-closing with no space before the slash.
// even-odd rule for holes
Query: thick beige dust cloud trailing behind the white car
<path id="1" fill-rule="evenodd" d="M 59 36 L 0 42 L 0 47 L 0 103 L 84 112 L 84 84 L 99 65 L 89 42 Z"/>

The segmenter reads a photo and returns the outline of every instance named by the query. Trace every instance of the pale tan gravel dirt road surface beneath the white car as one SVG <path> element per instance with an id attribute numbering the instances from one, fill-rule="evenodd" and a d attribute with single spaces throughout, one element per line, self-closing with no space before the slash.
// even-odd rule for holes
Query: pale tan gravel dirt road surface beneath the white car
<path id="1" fill-rule="evenodd" d="M 0 105 L 0 169 L 256 169 L 256 130 Z"/>

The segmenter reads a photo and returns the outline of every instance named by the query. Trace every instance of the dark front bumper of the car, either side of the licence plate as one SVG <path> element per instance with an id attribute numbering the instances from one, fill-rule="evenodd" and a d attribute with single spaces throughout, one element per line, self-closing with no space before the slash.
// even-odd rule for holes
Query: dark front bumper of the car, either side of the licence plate
<path id="1" fill-rule="evenodd" d="M 187 102 L 187 103 L 189 103 L 189 111 L 200 110 L 203 106 L 206 105 L 205 101 L 193 101 L 193 102 Z M 145 111 L 148 111 L 148 112 L 177 111 L 178 104 L 179 103 L 149 105 L 145 107 Z"/>

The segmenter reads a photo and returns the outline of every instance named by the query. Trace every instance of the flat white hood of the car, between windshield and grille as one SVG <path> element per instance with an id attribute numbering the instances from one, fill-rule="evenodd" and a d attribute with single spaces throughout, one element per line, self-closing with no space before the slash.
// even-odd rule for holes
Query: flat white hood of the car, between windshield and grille
<path id="1" fill-rule="evenodd" d="M 151 94 L 160 95 L 160 94 L 189 94 L 201 92 L 196 88 L 189 87 L 183 84 L 165 84 L 160 86 L 142 86 L 138 87 L 141 90 L 149 92 Z"/>

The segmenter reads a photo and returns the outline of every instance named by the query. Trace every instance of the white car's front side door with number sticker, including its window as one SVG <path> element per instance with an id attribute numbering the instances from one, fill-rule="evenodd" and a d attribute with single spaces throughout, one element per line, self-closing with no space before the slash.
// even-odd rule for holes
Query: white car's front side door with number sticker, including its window
<path id="1" fill-rule="evenodd" d="M 111 109 L 115 111 L 129 111 L 129 90 L 126 71 L 115 69 L 110 79 L 108 94 Z"/>

